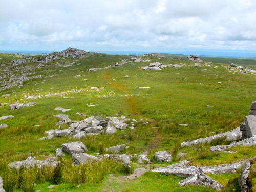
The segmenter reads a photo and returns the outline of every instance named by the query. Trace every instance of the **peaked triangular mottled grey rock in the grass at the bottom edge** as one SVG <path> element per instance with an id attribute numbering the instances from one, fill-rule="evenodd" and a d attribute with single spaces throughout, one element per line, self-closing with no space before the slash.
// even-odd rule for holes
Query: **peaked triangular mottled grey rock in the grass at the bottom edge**
<path id="1" fill-rule="evenodd" d="M 217 191 L 223 188 L 223 186 L 220 183 L 211 179 L 209 176 L 205 175 L 202 169 L 198 169 L 194 175 L 186 178 L 185 180 L 180 181 L 178 184 L 180 186 L 200 185 L 200 186 L 213 188 Z"/>

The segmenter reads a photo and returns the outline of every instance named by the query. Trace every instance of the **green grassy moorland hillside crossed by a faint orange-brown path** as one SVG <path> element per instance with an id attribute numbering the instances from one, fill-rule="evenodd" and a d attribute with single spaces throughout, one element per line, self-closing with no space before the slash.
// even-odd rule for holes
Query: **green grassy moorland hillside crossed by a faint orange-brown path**
<path id="1" fill-rule="evenodd" d="M 130 56 L 87 53 L 80 58 L 54 60 L 43 66 L 35 62 L 40 56 L 31 57 L 26 63 L 15 66 L 9 62 L 12 56 L 1 54 L 0 58 L 4 61 L 0 59 L 0 76 L 5 76 L 5 79 L 0 81 L 4 86 L 0 92 L 0 116 L 14 116 L 0 121 L 0 124 L 8 124 L 7 129 L 0 129 L 0 176 L 3 177 L 4 183 L 5 176 L 10 172 L 6 168 L 10 162 L 25 160 L 31 154 L 37 160 L 50 154 L 55 156 L 56 148 L 60 148 L 62 143 L 75 141 L 68 137 L 37 140 L 44 137 L 44 131 L 58 128 L 55 125 L 59 119 L 54 117 L 55 114 L 60 114 L 54 110 L 57 106 L 71 109 L 65 114 L 74 121 L 84 119 L 76 115 L 76 112 L 84 113 L 87 117 L 118 114 L 138 120 L 134 130 L 119 130 L 113 135 L 82 138 L 81 141 L 91 155 L 100 153 L 102 147 L 126 144 L 129 146 L 125 150 L 126 154 L 142 154 L 147 151 L 148 157 L 153 160 L 151 168 L 169 165 L 155 161 L 154 154 L 160 150 L 173 154 L 171 164 L 181 160 L 175 158 L 177 152 L 188 153 L 185 159 L 189 159 L 193 165 L 233 163 L 256 155 L 254 146 L 236 147 L 236 154 L 210 153 L 210 144 L 197 146 L 201 151 L 194 150 L 195 146 L 180 148 L 182 141 L 215 135 L 239 126 L 248 114 L 251 101 L 256 100 L 256 78 L 253 74 L 240 73 L 238 70 L 230 72 L 226 64 L 210 63 L 211 66 L 204 66 L 204 63 L 201 63 L 200 67 L 194 67 L 193 61 L 174 60 L 169 57 L 159 59 L 151 55 L 141 56 L 143 60 L 151 62 L 135 63 L 130 62 Z M 124 59 L 127 59 L 124 65 L 113 66 Z M 239 64 L 240 60 L 236 61 L 234 63 Z M 185 66 L 167 67 L 160 71 L 140 69 L 152 62 L 183 63 Z M 12 75 L 18 76 L 25 70 L 29 80 L 8 88 L 6 85 L 11 82 L 12 77 L 3 70 L 8 66 Z M 100 69 L 90 71 L 91 68 Z M 126 75 L 129 77 L 125 78 Z M 149 88 L 138 89 L 139 87 Z M 36 102 L 36 105 L 9 110 L 8 105 L 16 102 Z M 89 108 L 89 103 L 98 106 Z M 205 105 L 213 107 L 206 108 Z M 72 174 L 78 170 L 71 166 L 72 160 L 68 154 L 62 161 L 68 167 L 62 174 L 70 177 L 62 177 L 58 182 L 59 187 L 54 190 L 46 189 L 54 183 L 52 179 L 37 179 L 34 181 L 37 183 L 37 190 L 213 191 L 205 187 L 181 187 L 177 183 L 182 178 L 156 173 L 146 173 L 129 180 L 125 179 L 127 172 L 122 169 L 115 171 L 114 167 L 104 172 L 102 170 L 102 175 L 97 176 L 95 180 L 72 183 Z M 106 164 L 111 166 L 109 162 Z M 92 165 L 100 166 L 104 165 Z M 132 163 L 132 169 L 137 166 L 142 165 Z M 89 170 L 89 173 L 90 177 L 94 175 L 92 170 Z M 109 174 L 114 174 L 115 177 L 112 178 Z M 119 175 L 121 180 L 118 179 Z M 222 191 L 239 191 L 236 184 L 238 173 L 210 177 L 225 186 Z M 81 184 L 80 187 L 76 187 L 77 184 Z"/>

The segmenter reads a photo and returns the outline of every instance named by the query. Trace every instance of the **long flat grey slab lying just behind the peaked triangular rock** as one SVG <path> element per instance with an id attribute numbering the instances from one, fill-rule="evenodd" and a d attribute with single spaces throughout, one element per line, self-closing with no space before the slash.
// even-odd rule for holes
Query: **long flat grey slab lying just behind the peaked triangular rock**
<path id="1" fill-rule="evenodd" d="M 194 175 L 196 171 L 201 168 L 205 174 L 223 174 L 223 173 L 234 173 L 240 168 L 244 161 L 233 163 L 233 164 L 221 164 L 214 166 L 189 166 L 184 165 L 187 161 L 183 161 L 181 164 L 173 164 L 167 167 L 155 168 L 151 172 L 158 172 L 164 175 L 175 175 L 178 177 L 187 178 Z"/>

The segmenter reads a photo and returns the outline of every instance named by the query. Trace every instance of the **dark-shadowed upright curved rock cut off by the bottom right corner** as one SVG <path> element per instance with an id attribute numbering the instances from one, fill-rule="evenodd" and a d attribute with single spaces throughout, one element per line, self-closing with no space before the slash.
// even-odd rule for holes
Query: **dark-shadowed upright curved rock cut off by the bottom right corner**
<path id="1" fill-rule="evenodd" d="M 250 189 L 251 184 L 250 184 L 248 177 L 249 177 L 251 165 L 255 162 L 256 162 L 256 157 L 253 157 L 253 158 L 249 159 L 248 161 L 246 161 L 242 167 L 242 170 L 241 170 L 239 178 L 238 178 L 238 184 L 239 184 L 241 192 L 251 191 L 251 189 Z"/>

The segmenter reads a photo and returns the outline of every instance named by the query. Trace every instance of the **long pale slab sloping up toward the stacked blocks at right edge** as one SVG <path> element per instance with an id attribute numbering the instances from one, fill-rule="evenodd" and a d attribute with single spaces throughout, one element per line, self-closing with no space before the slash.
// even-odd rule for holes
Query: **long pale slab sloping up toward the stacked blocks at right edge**
<path id="1" fill-rule="evenodd" d="M 236 129 L 233 129 L 231 131 L 228 131 L 225 133 L 220 133 L 220 134 L 217 134 L 214 136 L 209 136 L 209 137 L 190 140 L 190 141 L 184 141 L 181 143 L 181 147 L 197 145 L 198 143 L 210 142 L 213 139 L 217 139 L 217 138 L 221 138 L 221 137 L 225 137 L 228 141 L 237 141 L 238 139 L 240 139 L 242 137 L 240 127 L 237 127 Z"/>

